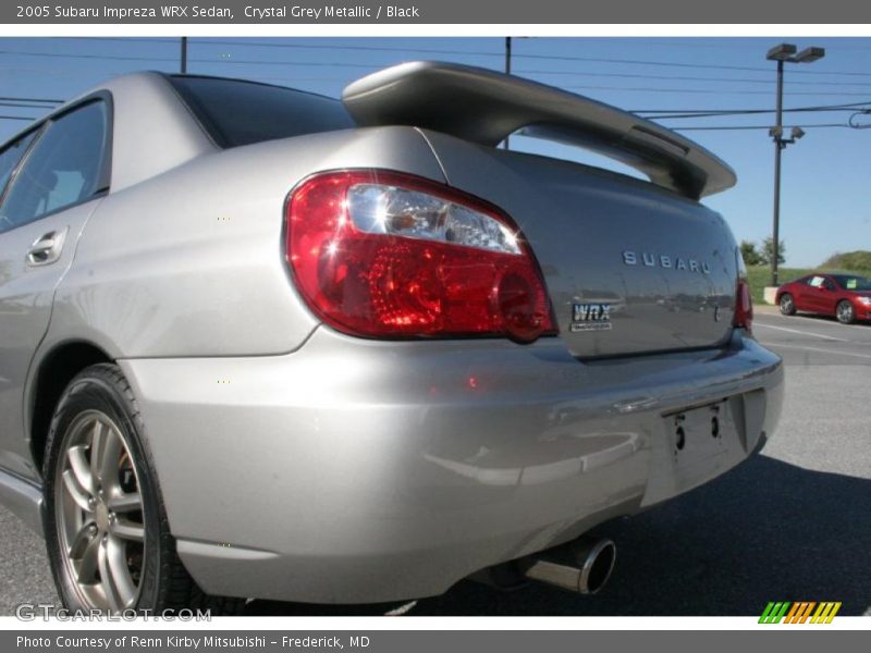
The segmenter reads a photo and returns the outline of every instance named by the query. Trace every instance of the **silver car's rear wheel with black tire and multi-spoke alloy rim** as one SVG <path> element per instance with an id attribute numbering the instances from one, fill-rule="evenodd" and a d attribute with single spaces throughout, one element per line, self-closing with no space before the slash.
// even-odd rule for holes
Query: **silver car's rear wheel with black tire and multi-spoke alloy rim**
<path id="1" fill-rule="evenodd" d="M 175 551 L 145 424 L 114 365 L 66 386 L 42 469 L 54 584 L 69 609 L 241 614 L 245 601 L 208 596 Z"/>

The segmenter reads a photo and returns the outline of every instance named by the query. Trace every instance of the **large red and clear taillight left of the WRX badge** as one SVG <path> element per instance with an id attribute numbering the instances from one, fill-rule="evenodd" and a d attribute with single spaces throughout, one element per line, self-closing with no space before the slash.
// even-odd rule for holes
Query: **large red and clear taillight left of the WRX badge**
<path id="1" fill-rule="evenodd" d="M 553 333 L 538 266 L 496 208 L 375 170 L 318 174 L 287 202 L 286 256 L 309 307 L 369 337 Z"/>

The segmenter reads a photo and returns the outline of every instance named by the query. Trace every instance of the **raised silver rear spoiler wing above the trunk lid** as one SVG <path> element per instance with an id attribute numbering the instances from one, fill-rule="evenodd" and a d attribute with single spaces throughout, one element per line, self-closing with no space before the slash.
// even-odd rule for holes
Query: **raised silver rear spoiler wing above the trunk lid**
<path id="1" fill-rule="evenodd" d="M 616 159 L 659 186 L 698 199 L 735 185 L 735 172 L 703 147 L 610 104 L 512 75 L 412 62 L 345 87 L 358 124 L 413 125 L 495 147 L 515 133 Z"/>

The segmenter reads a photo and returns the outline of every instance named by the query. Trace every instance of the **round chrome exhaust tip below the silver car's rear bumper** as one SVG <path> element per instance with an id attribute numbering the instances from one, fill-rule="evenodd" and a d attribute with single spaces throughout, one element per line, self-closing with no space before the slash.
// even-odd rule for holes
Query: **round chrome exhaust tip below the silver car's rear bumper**
<path id="1" fill-rule="evenodd" d="M 605 587 L 614 570 L 617 547 L 609 539 L 582 540 L 573 547 L 575 564 L 532 557 L 524 576 L 578 594 L 596 594 Z"/>

